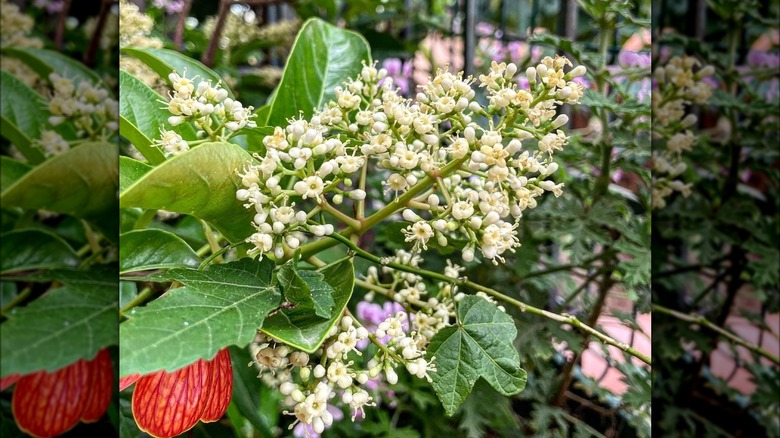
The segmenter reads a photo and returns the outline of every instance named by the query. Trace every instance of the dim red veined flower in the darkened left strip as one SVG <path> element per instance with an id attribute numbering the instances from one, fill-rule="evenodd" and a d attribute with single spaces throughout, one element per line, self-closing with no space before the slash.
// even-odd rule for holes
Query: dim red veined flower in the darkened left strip
<path id="1" fill-rule="evenodd" d="M 103 349 L 92 360 L 79 359 L 51 373 L 8 376 L 0 386 L 14 383 L 11 408 L 19 428 L 34 437 L 61 435 L 79 420 L 92 423 L 106 413 L 114 392 L 111 356 Z"/>

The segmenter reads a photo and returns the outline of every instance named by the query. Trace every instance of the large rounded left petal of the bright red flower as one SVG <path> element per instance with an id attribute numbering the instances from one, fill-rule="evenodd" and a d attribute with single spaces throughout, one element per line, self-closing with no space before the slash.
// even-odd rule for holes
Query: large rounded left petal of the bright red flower
<path id="1" fill-rule="evenodd" d="M 209 368 L 200 359 L 171 373 L 158 371 L 138 379 L 132 402 L 138 427 L 149 435 L 168 438 L 195 426 L 208 401 Z"/>

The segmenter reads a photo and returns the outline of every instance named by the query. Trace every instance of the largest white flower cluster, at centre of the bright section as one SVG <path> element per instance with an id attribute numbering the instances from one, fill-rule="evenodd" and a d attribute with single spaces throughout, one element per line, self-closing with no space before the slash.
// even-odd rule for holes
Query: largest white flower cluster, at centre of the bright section
<path id="1" fill-rule="evenodd" d="M 546 57 L 526 71 L 530 85 L 520 88 L 517 67 L 494 62 L 479 77 L 485 106 L 474 79 L 462 73 L 439 70 L 410 100 L 384 69 L 364 66 L 313 117 L 276 127 L 263 140 L 266 152 L 239 173 L 237 198 L 257 213 L 251 254 L 279 257 L 298 247 L 296 233 L 330 234 L 333 226 L 317 221 L 318 213 L 338 217 L 333 205 L 345 198 L 362 203 L 364 186 L 354 184 L 376 168 L 385 195 L 404 208 L 403 233 L 414 251 L 432 239 L 442 246 L 464 240 L 465 261 L 476 251 L 503 261 L 520 245 L 515 229 L 523 211 L 545 192 L 562 192 L 563 184 L 547 179 L 558 168 L 553 154 L 568 141 L 560 129 L 568 118 L 556 110 L 578 103 L 583 88 L 573 79 L 585 74 L 569 67 L 565 57 Z"/>

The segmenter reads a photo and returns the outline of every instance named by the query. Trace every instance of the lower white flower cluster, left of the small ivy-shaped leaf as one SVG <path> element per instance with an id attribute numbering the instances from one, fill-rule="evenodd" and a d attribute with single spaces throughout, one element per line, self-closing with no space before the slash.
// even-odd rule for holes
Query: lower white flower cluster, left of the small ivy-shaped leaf
<path id="1" fill-rule="evenodd" d="M 390 336 L 387 346 L 380 345 L 383 352 L 368 362 L 366 369 L 361 368 L 353 359 L 359 359 L 362 353 L 358 343 L 369 337 Z M 294 415 L 296 421 L 310 425 L 317 433 L 333 423 L 333 414 L 328 404 L 338 399 L 352 411 L 354 421 L 364 408 L 375 406 L 373 397 L 362 387 L 384 372 L 388 383 L 395 384 L 398 374 L 394 368 L 405 365 L 413 375 L 427 378 L 427 371 L 433 366 L 423 358 L 425 351 L 420 349 L 414 333 L 407 336 L 402 329 L 401 316 L 393 316 L 383 322 L 371 334 L 357 320 L 349 315 L 342 316 L 328 333 L 328 338 L 313 355 L 296 350 L 275 339 L 258 333 L 252 350 L 255 361 L 260 367 L 260 375 L 266 384 L 278 387 L 284 396 L 284 403 L 291 408 L 285 414 Z M 427 341 L 425 341 L 427 344 Z M 388 357 L 395 356 L 395 358 Z"/>

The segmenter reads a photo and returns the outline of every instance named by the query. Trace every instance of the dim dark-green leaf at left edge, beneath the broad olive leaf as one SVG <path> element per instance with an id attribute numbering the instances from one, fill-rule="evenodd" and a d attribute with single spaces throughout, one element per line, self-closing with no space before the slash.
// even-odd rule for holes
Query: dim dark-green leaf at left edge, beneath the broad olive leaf
<path id="1" fill-rule="evenodd" d="M 48 231 L 14 230 L 3 234 L 0 242 L 0 274 L 78 265 L 73 248 Z"/>

